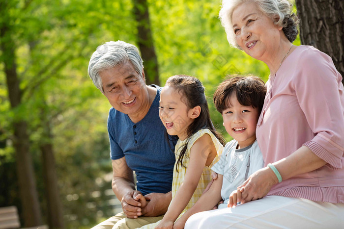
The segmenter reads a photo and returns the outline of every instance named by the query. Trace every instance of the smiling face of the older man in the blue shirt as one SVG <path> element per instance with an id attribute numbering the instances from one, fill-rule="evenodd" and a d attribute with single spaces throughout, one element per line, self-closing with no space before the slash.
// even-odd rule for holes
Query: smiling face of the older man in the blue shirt
<path id="1" fill-rule="evenodd" d="M 129 117 L 135 116 L 149 103 L 144 78 L 130 62 L 104 70 L 99 76 L 103 82 L 104 95 L 116 110 Z"/>

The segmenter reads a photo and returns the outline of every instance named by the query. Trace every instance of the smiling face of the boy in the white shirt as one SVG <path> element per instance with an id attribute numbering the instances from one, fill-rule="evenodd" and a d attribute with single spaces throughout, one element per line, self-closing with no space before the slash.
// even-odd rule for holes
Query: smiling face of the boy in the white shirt
<path id="1" fill-rule="evenodd" d="M 236 99 L 235 93 L 229 97 L 229 107 L 222 112 L 224 127 L 243 149 L 256 140 L 256 127 L 258 122 L 258 108 L 243 106 Z"/>

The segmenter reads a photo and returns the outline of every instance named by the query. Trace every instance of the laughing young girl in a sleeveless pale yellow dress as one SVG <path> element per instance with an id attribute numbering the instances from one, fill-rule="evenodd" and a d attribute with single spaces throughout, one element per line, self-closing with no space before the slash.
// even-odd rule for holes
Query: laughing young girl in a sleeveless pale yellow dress
<path id="1" fill-rule="evenodd" d="M 161 92 L 160 119 L 175 146 L 172 201 L 164 218 L 142 228 L 172 228 L 174 221 L 201 197 L 210 182 L 211 167 L 219 159 L 225 140 L 213 127 L 204 87 L 192 76 L 171 76 Z M 138 197 L 142 205 L 145 199 Z"/>

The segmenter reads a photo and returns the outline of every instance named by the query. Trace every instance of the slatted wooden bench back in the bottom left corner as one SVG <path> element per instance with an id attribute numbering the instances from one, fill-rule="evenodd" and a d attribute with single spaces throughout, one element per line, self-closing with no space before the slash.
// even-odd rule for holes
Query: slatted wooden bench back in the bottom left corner
<path id="1" fill-rule="evenodd" d="M 10 229 L 19 227 L 20 222 L 17 207 L 0 207 L 0 229 Z"/>

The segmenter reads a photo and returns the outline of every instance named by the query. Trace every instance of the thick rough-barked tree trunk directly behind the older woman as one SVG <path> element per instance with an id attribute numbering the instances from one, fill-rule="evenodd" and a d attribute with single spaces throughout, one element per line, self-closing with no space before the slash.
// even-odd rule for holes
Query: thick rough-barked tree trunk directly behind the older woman
<path id="1" fill-rule="evenodd" d="M 296 0 L 296 8 L 301 44 L 328 54 L 344 76 L 344 1 Z"/>

